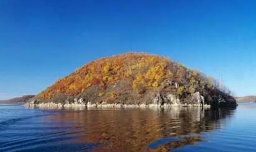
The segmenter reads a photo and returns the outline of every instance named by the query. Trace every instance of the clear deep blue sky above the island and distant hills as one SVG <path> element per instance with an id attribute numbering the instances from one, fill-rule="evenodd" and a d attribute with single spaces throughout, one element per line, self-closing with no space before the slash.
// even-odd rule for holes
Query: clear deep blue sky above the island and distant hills
<path id="1" fill-rule="evenodd" d="M 0 99 L 102 56 L 145 51 L 256 94 L 256 1 L 0 0 Z"/>

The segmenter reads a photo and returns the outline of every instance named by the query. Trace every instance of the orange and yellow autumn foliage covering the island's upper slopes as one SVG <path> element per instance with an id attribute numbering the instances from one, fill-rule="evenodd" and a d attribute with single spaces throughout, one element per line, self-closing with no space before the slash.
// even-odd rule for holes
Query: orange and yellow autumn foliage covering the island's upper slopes
<path id="1" fill-rule="evenodd" d="M 138 94 L 163 87 L 167 81 L 179 84 L 176 90 L 178 94 L 213 87 L 211 79 L 169 58 L 146 53 L 126 53 L 92 61 L 69 76 L 59 79 L 39 96 L 44 99 L 56 94 L 75 96 L 95 85 L 102 89 L 98 96 L 105 96 L 104 90 L 118 81 L 130 81 L 131 86 L 127 87 Z M 118 95 L 115 92 L 108 92 L 108 96 L 116 98 Z"/>

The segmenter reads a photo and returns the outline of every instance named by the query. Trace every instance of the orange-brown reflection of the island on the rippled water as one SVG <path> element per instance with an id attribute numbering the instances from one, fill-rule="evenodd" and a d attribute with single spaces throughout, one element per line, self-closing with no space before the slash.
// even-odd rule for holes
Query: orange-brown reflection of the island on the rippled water
<path id="1" fill-rule="evenodd" d="M 54 119 L 59 125 L 69 121 L 72 127 L 82 126 L 85 132 L 73 142 L 100 143 L 94 150 L 159 151 L 195 144 L 203 140 L 199 133 L 224 127 L 231 115 L 230 111 L 200 108 L 129 109 L 85 110 L 54 116 Z M 220 118 L 225 119 L 220 122 Z M 156 140 L 158 146 L 149 146 Z"/>

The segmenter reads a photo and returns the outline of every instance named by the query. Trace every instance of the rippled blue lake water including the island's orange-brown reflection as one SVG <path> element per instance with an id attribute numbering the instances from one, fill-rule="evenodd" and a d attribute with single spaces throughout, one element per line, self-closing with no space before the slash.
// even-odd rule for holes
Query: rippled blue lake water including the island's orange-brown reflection
<path id="1" fill-rule="evenodd" d="M 0 105 L 0 151 L 256 151 L 256 104 L 231 110 Z"/>

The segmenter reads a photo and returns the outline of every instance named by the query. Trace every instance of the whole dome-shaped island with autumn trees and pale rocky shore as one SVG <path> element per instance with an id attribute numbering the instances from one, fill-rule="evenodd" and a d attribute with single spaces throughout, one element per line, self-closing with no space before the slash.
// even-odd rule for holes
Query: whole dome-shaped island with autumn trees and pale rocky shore
<path id="1" fill-rule="evenodd" d="M 235 107 L 215 79 L 177 61 L 125 53 L 87 63 L 30 99 L 39 107 Z"/>

